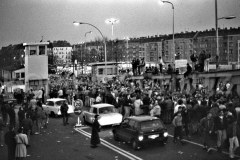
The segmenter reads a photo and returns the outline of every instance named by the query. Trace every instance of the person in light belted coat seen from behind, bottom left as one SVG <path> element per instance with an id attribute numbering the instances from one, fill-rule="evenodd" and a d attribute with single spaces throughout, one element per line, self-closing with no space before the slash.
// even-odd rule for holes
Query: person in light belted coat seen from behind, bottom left
<path id="1" fill-rule="evenodd" d="M 16 160 L 23 160 L 27 157 L 27 145 L 28 145 L 28 138 L 26 134 L 23 134 L 23 128 L 18 129 L 18 134 L 15 137 L 16 140 L 16 151 L 15 157 Z"/>

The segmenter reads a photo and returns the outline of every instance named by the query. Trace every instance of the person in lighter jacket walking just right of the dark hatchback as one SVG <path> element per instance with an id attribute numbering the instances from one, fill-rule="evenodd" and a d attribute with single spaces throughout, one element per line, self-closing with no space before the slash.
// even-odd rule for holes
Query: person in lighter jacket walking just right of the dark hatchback
<path id="1" fill-rule="evenodd" d="M 172 121 L 174 128 L 174 143 L 177 143 L 177 137 L 179 137 L 180 141 L 182 142 L 182 144 L 184 144 L 183 142 L 183 137 L 182 137 L 182 113 L 181 111 L 177 112 L 177 115 L 174 117 L 173 121 Z"/>

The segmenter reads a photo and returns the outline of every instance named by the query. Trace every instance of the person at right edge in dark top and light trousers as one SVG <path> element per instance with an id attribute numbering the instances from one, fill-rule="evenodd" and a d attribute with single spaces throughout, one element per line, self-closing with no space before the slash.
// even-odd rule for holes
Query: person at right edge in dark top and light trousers
<path id="1" fill-rule="evenodd" d="M 237 125 L 237 119 L 234 119 L 232 124 L 227 129 L 227 135 L 229 137 L 229 157 L 235 158 L 234 152 L 239 147 L 238 137 L 240 137 L 240 128 Z"/>

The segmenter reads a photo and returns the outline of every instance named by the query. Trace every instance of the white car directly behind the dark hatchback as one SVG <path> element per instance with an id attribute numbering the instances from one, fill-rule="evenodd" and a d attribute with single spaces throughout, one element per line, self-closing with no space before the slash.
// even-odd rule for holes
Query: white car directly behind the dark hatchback
<path id="1" fill-rule="evenodd" d="M 84 122 L 92 124 L 95 115 L 100 115 L 98 122 L 101 126 L 120 124 L 123 118 L 113 105 L 107 103 L 94 104 L 89 111 L 83 111 Z"/>

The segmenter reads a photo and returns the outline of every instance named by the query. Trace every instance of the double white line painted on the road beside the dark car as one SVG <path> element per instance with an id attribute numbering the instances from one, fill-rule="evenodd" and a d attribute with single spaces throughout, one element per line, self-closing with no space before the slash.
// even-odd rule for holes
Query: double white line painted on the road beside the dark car
<path id="1" fill-rule="evenodd" d="M 74 129 L 77 132 L 87 136 L 88 138 L 91 138 L 91 134 L 86 132 L 86 131 L 83 131 L 81 128 L 74 128 Z M 102 145 L 108 147 L 109 149 L 112 149 L 115 152 L 118 152 L 119 154 L 121 154 L 121 155 L 123 155 L 123 156 L 125 156 L 125 157 L 127 157 L 127 158 L 129 158 L 131 160 L 143 160 L 140 157 L 137 157 L 137 156 L 135 156 L 135 155 L 133 155 L 133 154 L 131 154 L 131 153 L 129 153 L 129 152 L 127 152 L 127 151 L 125 151 L 125 150 L 123 150 L 123 149 L 121 149 L 121 148 L 119 148 L 119 147 L 117 147 L 117 146 L 115 146 L 115 145 L 113 145 L 113 144 L 111 144 L 111 143 L 101 139 L 101 138 L 100 138 L 100 140 L 102 142 Z"/>

